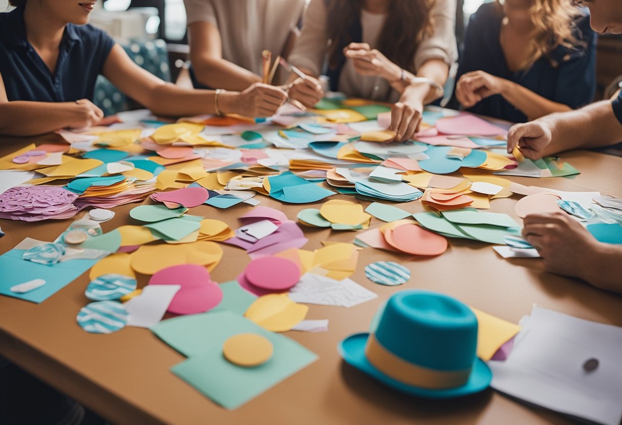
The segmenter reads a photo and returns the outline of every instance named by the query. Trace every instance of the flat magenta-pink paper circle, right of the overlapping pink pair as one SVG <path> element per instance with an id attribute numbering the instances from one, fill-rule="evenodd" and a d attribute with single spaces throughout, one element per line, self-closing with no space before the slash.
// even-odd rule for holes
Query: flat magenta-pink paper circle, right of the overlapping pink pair
<path id="1" fill-rule="evenodd" d="M 246 278 L 259 288 L 273 291 L 288 290 L 300 279 L 298 266 L 285 258 L 263 257 L 246 267 Z"/>

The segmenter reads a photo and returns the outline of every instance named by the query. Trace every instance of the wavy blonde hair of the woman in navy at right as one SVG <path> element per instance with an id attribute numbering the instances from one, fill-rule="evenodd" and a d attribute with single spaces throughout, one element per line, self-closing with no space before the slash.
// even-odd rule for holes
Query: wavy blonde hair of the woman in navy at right
<path id="1" fill-rule="evenodd" d="M 501 13 L 504 0 L 497 0 Z M 549 58 L 556 66 L 550 53 L 559 46 L 569 50 L 580 50 L 585 42 L 577 37 L 577 19 L 585 13 L 573 0 L 532 0 L 529 16 L 534 26 L 531 33 L 531 45 L 527 57 L 521 64 L 522 69 L 531 68 L 542 57 Z"/>

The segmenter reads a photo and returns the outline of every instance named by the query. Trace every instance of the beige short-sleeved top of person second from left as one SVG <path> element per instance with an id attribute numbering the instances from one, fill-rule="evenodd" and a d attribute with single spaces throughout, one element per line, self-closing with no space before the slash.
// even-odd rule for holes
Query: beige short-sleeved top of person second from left
<path id="1" fill-rule="evenodd" d="M 183 0 L 188 25 L 211 22 L 220 31 L 223 59 L 261 75 L 263 50 L 281 55 L 305 0 Z"/>

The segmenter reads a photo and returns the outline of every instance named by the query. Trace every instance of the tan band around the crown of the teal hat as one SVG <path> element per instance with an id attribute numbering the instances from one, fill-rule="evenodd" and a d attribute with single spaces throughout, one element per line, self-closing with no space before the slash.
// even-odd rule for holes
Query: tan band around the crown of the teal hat
<path id="1" fill-rule="evenodd" d="M 407 362 L 384 348 L 374 334 L 369 334 L 365 355 L 369 363 L 388 377 L 407 385 L 431 390 L 444 390 L 465 385 L 471 374 L 471 368 L 437 370 Z"/>

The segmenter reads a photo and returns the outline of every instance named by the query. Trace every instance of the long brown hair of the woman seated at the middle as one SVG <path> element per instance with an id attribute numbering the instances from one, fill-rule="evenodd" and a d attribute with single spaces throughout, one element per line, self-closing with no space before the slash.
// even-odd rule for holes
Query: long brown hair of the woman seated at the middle
<path id="1" fill-rule="evenodd" d="M 384 27 L 378 37 L 378 50 L 391 62 L 414 73 L 414 56 L 425 37 L 434 34 L 432 5 L 435 0 L 391 0 Z M 327 0 L 328 65 L 336 68 L 341 50 L 353 42 L 348 30 L 360 19 L 363 0 Z"/>

